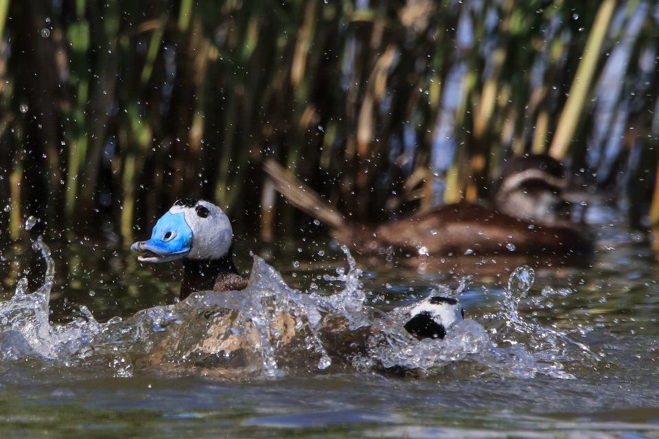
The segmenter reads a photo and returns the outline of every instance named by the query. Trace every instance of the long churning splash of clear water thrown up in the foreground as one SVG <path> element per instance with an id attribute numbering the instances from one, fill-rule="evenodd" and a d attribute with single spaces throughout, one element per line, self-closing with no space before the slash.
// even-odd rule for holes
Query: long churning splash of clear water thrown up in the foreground
<path id="1" fill-rule="evenodd" d="M 573 378 L 564 364 L 599 359 L 570 335 L 520 316 L 520 300 L 533 285 L 528 267 L 511 275 L 502 309 L 487 316 L 492 327 L 461 320 L 443 340 L 419 341 L 402 327 L 413 305 L 386 313 L 367 305 L 360 270 L 347 248 L 348 270 L 325 276 L 344 283 L 336 294 L 292 289 L 255 257 L 242 292 L 199 292 L 104 323 L 83 307 L 84 318 L 51 324 L 54 265 L 41 237 L 33 247 L 47 263 L 45 281 L 30 293 L 27 279 L 21 279 L 14 296 L 0 303 L 0 363 L 34 358 L 45 367 L 108 368 L 117 377 L 158 369 L 229 379 L 325 369 L 432 375 L 461 364 L 475 375 Z M 456 296 L 463 287 L 453 292 L 439 286 L 431 294 Z"/>

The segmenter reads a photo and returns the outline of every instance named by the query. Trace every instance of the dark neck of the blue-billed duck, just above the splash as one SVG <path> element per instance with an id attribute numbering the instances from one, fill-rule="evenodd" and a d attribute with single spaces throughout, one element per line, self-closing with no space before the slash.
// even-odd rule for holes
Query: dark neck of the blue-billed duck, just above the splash
<path id="1" fill-rule="evenodd" d="M 181 300 L 196 291 L 213 291 L 224 278 L 235 276 L 238 270 L 231 251 L 222 259 L 183 259 Z"/>

